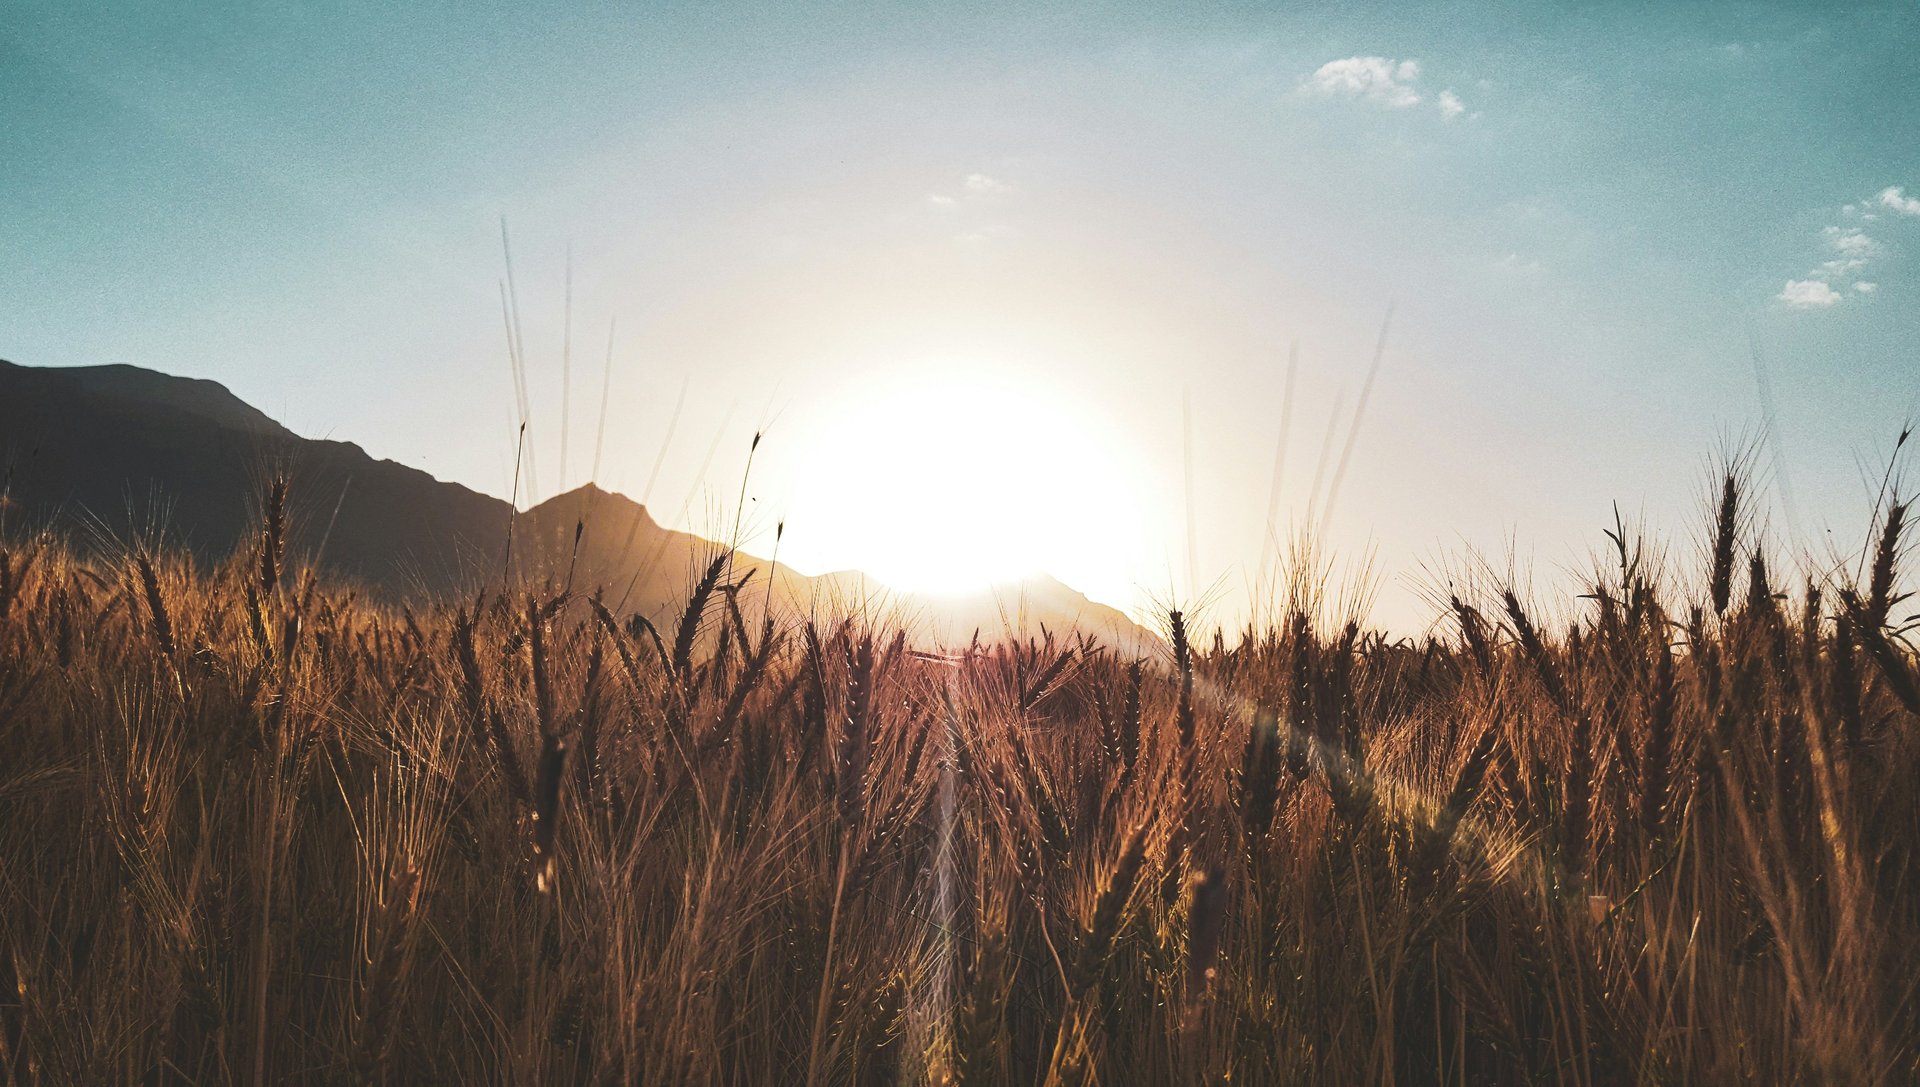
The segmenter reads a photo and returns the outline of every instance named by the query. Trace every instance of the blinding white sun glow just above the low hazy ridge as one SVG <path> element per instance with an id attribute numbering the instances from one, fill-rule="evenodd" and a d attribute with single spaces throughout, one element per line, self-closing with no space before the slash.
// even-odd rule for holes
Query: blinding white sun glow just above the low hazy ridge
<path id="1" fill-rule="evenodd" d="M 787 555 L 803 568 L 931 593 L 1048 572 L 1125 605 L 1144 476 L 1069 398 L 954 363 L 822 403 L 793 434 Z"/>

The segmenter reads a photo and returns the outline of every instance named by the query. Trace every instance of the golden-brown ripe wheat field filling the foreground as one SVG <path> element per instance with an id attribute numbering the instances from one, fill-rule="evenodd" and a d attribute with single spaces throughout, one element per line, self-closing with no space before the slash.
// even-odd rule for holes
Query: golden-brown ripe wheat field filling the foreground
<path id="1" fill-rule="evenodd" d="M 10 1083 L 1912 1081 L 1905 509 L 1131 661 L 0 555 Z"/>

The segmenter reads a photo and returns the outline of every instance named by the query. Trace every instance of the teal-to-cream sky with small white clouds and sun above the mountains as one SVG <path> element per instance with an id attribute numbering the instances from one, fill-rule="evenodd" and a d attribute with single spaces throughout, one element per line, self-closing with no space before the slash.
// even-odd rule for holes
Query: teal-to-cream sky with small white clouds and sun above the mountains
<path id="1" fill-rule="evenodd" d="M 1768 538 L 1859 545 L 1920 8 L 1167 8 L 12 0 L 0 357 L 1137 615 L 1236 622 L 1306 522 L 1409 632 L 1615 503 L 1686 567 L 1757 434 Z"/>

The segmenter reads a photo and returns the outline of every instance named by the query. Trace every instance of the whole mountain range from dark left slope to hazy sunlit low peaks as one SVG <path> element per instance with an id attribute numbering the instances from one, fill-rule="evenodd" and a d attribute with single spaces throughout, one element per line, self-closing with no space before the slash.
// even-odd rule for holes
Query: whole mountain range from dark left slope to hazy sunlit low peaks
<path id="1" fill-rule="evenodd" d="M 246 544 L 265 482 L 286 472 L 296 553 L 397 601 L 465 595 L 511 574 L 516 584 L 601 590 L 620 611 L 662 620 L 720 553 L 591 484 L 515 515 L 497 497 L 376 461 L 349 442 L 301 438 L 217 382 L 123 365 L 0 361 L 0 532 L 54 524 L 117 540 L 159 534 L 200 561 Z M 806 576 L 737 553 L 730 576 L 749 572 L 749 599 L 770 592 L 778 607 L 826 616 L 858 609 L 906 622 L 929 643 L 1043 624 L 1135 649 L 1154 643 L 1119 611 L 1052 578 L 927 597 L 858 572 Z"/>

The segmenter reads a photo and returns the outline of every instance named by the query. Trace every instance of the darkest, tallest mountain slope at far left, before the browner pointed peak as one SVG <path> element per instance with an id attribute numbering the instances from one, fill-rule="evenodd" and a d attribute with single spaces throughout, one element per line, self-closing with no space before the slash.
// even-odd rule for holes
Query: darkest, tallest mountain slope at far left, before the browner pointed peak
<path id="1" fill-rule="evenodd" d="M 300 438 L 209 380 L 134 367 L 0 365 L 0 457 L 15 517 L 79 519 L 115 536 L 163 526 L 202 559 L 257 524 L 275 467 L 292 478 L 294 530 L 338 572 L 394 592 L 444 592 L 497 555 L 507 503 Z"/>

